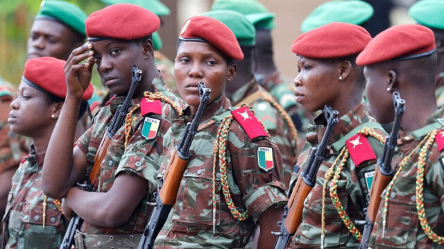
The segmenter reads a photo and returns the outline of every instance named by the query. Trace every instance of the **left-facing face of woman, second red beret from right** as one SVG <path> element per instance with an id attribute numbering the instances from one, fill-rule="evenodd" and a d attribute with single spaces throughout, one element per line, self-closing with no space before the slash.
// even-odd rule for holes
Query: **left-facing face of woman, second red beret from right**
<path id="1" fill-rule="evenodd" d="M 294 79 L 296 102 L 305 110 L 316 112 L 324 105 L 336 106 L 341 92 L 339 62 L 316 60 L 298 56 L 298 76 Z M 334 109 L 336 110 L 336 109 Z"/>

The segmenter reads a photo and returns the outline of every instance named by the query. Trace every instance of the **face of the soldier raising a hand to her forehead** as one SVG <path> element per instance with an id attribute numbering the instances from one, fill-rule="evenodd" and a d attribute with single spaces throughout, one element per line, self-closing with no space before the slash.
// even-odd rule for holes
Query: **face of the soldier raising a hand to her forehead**
<path id="1" fill-rule="evenodd" d="M 108 39 L 91 44 L 103 85 L 113 94 L 128 92 L 131 85 L 131 67 L 136 65 L 144 71 L 146 62 L 142 43 Z"/>

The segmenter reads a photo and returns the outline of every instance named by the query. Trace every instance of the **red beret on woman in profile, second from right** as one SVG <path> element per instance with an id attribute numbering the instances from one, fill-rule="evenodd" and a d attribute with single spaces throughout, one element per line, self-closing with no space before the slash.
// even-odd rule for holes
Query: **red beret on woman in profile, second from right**
<path id="1" fill-rule="evenodd" d="M 332 22 L 299 35 L 291 51 L 307 58 L 330 59 L 355 55 L 372 40 L 365 28 Z"/>

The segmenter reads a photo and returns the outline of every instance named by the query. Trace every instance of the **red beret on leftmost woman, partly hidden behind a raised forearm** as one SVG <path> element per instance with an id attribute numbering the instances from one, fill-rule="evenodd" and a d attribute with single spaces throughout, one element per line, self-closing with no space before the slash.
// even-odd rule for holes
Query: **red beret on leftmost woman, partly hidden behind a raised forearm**
<path id="1" fill-rule="evenodd" d="M 67 96 L 67 83 L 65 81 L 65 60 L 53 57 L 39 57 L 29 59 L 25 63 L 23 78 L 26 83 L 60 98 Z M 94 89 L 89 83 L 82 100 L 92 97 Z"/>

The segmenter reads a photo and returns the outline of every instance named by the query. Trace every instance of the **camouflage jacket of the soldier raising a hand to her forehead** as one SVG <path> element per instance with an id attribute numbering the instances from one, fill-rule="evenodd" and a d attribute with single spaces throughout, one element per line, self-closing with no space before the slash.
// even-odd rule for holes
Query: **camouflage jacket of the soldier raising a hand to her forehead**
<path id="1" fill-rule="evenodd" d="M 178 98 L 167 90 L 160 78 L 154 78 L 152 83 L 153 92 L 161 92 L 164 96 L 168 96 L 178 105 Z M 105 133 L 108 124 L 112 120 L 117 106 L 123 102 L 124 97 L 118 96 L 110 100 L 110 104 L 102 108 L 94 117 L 94 123 L 85 134 L 77 141 L 77 146 L 87 156 L 89 167 L 94 164 L 94 155 L 96 155 L 97 148 L 100 145 L 101 139 Z M 140 101 L 147 101 L 146 98 L 141 98 Z M 132 110 L 133 108 L 130 108 Z M 159 170 L 159 162 L 162 161 L 162 143 L 164 134 L 170 126 L 172 117 L 177 116 L 175 110 L 162 102 L 162 114 L 148 113 L 144 117 L 139 115 L 140 108 L 133 113 L 133 117 L 137 119 L 131 126 L 131 138 L 128 145 L 125 147 L 125 132 L 124 126 L 119 128 L 108 146 L 105 158 L 101 162 L 101 171 L 99 180 L 94 185 L 94 191 L 107 192 L 111 189 L 114 183 L 114 178 L 119 173 L 125 172 L 129 174 L 136 174 L 148 180 L 149 189 L 145 198 L 143 198 L 135 211 L 130 216 L 127 223 L 120 225 L 117 228 L 112 227 L 96 227 L 87 222 L 83 223 L 82 232 L 87 234 L 137 234 L 142 233 L 146 222 L 150 216 L 148 212 L 147 200 L 157 189 L 156 174 Z M 157 125 L 156 125 L 157 123 Z M 154 128 L 153 135 L 146 135 L 145 128 Z M 128 193 L 130 194 L 130 193 Z"/>

